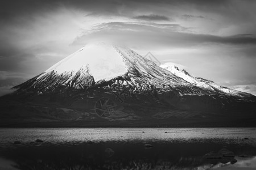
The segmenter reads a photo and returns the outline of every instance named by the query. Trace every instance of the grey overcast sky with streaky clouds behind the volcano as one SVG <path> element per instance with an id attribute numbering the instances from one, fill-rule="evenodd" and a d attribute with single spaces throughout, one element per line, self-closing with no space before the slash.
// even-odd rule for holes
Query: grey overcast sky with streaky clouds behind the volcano
<path id="1" fill-rule="evenodd" d="M 0 95 L 90 41 L 256 95 L 256 1 L 0 0 Z"/>

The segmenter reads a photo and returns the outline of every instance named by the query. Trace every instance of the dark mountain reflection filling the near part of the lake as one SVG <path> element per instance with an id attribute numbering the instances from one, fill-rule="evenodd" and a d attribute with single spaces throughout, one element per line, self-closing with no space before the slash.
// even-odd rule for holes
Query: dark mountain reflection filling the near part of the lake
<path id="1" fill-rule="evenodd" d="M 31 144 L 30 144 L 31 145 Z M 178 145 L 174 143 L 174 147 L 188 147 L 191 144 L 183 143 Z M 108 148 L 111 146 L 113 148 Z M 125 147 L 123 147 L 125 146 Z M 139 146 L 139 147 L 138 147 Z M 76 144 L 65 146 L 26 146 L 9 149 L 6 158 L 10 159 L 12 165 L 20 170 L 23 169 L 209 169 L 224 166 L 245 167 L 245 164 L 250 168 L 256 159 L 255 157 L 240 158 L 236 157 L 237 163 L 231 163 L 231 159 L 203 159 L 200 155 L 201 152 L 207 150 L 207 146 L 203 145 L 203 150 L 199 149 L 199 153 L 194 150 L 174 149 L 167 153 L 164 152 L 164 147 L 157 147 L 159 150 L 154 149 L 155 145 L 146 149 L 143 145 L 138 143 L 134 145 L 123 145 L 123 143 L 94 143 L 94 144 Z M 119 148 L 119 149 L 118 149 Z M 252 149 L 252 148 L 250 148 Z M 106 154 L 106 150 L 112 150 L 112 154 Z M 209 150 L 209 146 L 208 146 Z M 255 152 L 255 148 L 253 148 Z M 138 152 L 141 151 L 141 152 Z M 180 152 L 179 152 L 180 151 Z M 191 152 L 193 151 L 193 152 Z M 3 154 L 6 154 L 3 152 Z M 192 156 L 193 155 L 193 156 Z"/>

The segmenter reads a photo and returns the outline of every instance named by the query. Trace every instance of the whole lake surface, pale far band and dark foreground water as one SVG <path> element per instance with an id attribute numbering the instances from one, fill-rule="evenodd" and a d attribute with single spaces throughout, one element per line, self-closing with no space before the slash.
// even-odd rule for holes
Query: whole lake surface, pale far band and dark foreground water
<path id="1" fill-rule="evenodd" d="M 256 169 L 256 128 L 1 128 L 0 169 Z"/>

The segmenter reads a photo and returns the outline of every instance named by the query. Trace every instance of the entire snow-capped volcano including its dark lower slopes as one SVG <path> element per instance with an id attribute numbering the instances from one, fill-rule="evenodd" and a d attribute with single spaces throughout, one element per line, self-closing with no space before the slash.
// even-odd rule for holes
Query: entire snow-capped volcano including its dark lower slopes
<path id="1" fill-rule="evenodd" d="M 85 45 L 14 89 L 0 97 L 5 125 L 194 126 L 255 116 L 253 95 L 221 90 L 102 42 Z"/>

